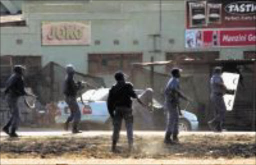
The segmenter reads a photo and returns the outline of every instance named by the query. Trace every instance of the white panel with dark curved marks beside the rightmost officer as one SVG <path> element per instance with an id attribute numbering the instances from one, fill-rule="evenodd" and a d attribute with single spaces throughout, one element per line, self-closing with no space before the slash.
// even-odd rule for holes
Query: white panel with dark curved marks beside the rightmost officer
<path id="1" fill-rule="evenodd" d="M 223 96 L 224 102 L 226 105 L 226 110 L 231 111 L 233 109 L 235 93 L 236 93 L 237 85 L 239 82 L 239 74 L 223 72 L 221 76 L 223 78 L 224 84 L 226 85 L 227 89 L 234 90 L 234 94 L 224 94 Z"/>

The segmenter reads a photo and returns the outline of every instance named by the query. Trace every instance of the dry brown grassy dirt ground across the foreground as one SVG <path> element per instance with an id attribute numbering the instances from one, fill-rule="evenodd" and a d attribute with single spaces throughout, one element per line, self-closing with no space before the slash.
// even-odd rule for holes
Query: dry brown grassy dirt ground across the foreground
<path id="1" fill-rule="evenodd" d="M 121 153 L 112 153 L 110 135 L 1 137 L 0 158 L 1 164 L 23 158 L 37 159 L 32 164 L 255 164 L 255 134 L 181 134 L 180 144 L 174 145 L 164 145 L 162 138 L 134 135 L 134 151 L 128 153 L 121 135 Z"/>

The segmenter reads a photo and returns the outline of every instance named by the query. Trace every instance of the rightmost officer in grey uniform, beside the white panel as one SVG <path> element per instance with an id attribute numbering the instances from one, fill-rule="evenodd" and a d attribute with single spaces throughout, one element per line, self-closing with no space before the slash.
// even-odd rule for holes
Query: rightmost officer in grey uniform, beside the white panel
<path id="1" fill-rule="evenodd" d="M 224 85 L 221 73 L 221 67 L 216 66 L 214 67 L 213 75 L 210 78 L 210 101 L 214 108 L 214 118 L 208 121 L 208 125 L 209 128 L 213 131 L 222 131 L 222 124 L 225 118 L 226 111 L 223 95 L 225 93 L 234 93 L 234 90 L 229 90 Z"/>

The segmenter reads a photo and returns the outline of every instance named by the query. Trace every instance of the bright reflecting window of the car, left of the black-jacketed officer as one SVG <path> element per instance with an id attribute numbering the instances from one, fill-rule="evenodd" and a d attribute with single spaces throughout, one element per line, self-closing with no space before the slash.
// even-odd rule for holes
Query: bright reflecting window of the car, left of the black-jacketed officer
<path id="1" fill-rule="evenodd" d="M 85 101 L 105 101 L 107 99 L 109 88 L 90 89 L 82 94 Z"/>

